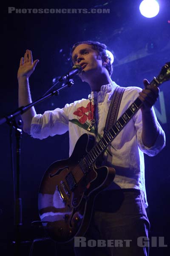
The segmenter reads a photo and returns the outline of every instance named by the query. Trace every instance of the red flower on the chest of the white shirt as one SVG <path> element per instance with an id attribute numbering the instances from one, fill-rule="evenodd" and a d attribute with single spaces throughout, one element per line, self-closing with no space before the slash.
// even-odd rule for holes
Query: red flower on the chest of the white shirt
<path id="1" fill-rule="evenodd" d="M 90 102 L 88 102 L 88 105 L 85 107 L 79 107 L 77 108 L 76 111 L 74 111 L 74 115 L 76 116 L 81 116 L 80 119 L 79 119 L 79 122 L 81 124 L 84 124 L 87 119 L 88 120 L 91 120 L 94 118 L 94 105 L 91 104 L 91 107 L 90 107 Z"/>

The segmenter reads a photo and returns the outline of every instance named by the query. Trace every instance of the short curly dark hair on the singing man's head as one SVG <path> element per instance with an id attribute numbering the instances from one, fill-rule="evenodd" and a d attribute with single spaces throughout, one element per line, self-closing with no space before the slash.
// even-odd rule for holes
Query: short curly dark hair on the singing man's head
<path id="1" fill-rule="evenodd" d="M 76 44 L 73 45 L 71 48 L 71 55 L 74 51 L 74 49 L 79 45 L 79 44 L 90 44 L 92 46 L 92 49 L 96 50 L 102 59 L 102 61 L 105 61 L 106 57 L 108 57 L 109 62 L 106 64 L 105 68 L 108 70 L 109 75 L 111 76 L 113 72 L 113 66 L 111 64 L 111 58 L 109 58 L 108 54 L 106 53 L 107 46 L 105 44 L 101 44 L 99 42 L 95 41 L 82 41 L 82 42 L 77 42 Z"/>

